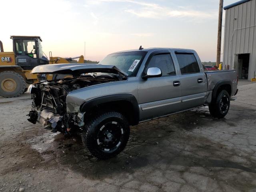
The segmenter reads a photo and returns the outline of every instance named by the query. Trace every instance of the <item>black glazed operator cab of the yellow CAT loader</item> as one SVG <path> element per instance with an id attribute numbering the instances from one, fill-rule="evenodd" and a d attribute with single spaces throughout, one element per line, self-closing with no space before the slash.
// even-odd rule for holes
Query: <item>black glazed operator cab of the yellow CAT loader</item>
<path id="1" fill-rule="evenodd" d="M 43 55 L 42 39 L 39 36 L 11 36 L 16 64 L 24 70 L 32 70 L 35 66 L 48 64 Z"/>

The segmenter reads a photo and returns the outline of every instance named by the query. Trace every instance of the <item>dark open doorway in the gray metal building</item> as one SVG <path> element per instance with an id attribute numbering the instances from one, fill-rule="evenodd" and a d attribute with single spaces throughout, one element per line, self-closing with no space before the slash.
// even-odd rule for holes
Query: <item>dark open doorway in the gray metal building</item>
<path id="1" fill-rule="evenodd" d="M 234 69 L 238 71 L 239 79 L 248 79 L 250 54 L 236 54 Z"/>

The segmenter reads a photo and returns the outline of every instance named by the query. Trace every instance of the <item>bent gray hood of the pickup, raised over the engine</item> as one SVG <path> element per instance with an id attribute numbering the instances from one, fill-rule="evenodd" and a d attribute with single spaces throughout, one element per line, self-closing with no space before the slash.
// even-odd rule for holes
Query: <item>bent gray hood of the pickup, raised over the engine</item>
<path id="1" fill-rule="evenodd" d="M 126 72 L 122 72 L 114 65 L 101 65 L 101 64 L 47 64 L 36 66 L 32 69 L 31 73 L 43 74 L 72 74 L 79 75 L 83 73 L 102 72 L 102 73 L 121 73 L 128 76 Z"/>

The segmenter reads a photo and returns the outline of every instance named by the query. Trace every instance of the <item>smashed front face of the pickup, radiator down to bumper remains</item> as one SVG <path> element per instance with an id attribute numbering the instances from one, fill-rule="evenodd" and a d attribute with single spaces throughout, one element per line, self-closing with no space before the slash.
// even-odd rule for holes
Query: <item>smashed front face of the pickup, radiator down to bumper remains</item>
<path id="1" fill-rule="evenodd" d="M 45 83 L 33 85 L 30 93 L 33 102 L 28 121 L 33 124 L 38 122 L 52 132 L 63 133 L 81 130 L 84 126 L 84 113 L 67 112 L 66 96 L 68 93 L 61 86 L 49 86 Z"/>

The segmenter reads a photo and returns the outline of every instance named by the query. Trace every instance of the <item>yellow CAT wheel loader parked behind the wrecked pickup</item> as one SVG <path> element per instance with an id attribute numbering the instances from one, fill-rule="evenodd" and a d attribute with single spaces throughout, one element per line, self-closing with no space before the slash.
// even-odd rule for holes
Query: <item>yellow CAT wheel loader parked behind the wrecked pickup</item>
<path id="1" fill-rule="evenodd" d="M 79 58 L 78 63 L 84 63 L 84 56 L 75 58 L 52 57 L 50 60 L 44 56 L 40 36 L 10 36 L 13 42 L 13 52 L 4 52 L 0 41 L 0 96 L 18 97 L 24 93 L 29 84 L 39 81 L 37 74 L 30 71 L 38 65 L 69 63 Z M 52 76 L 44 76 L 51 80 Z"/>

